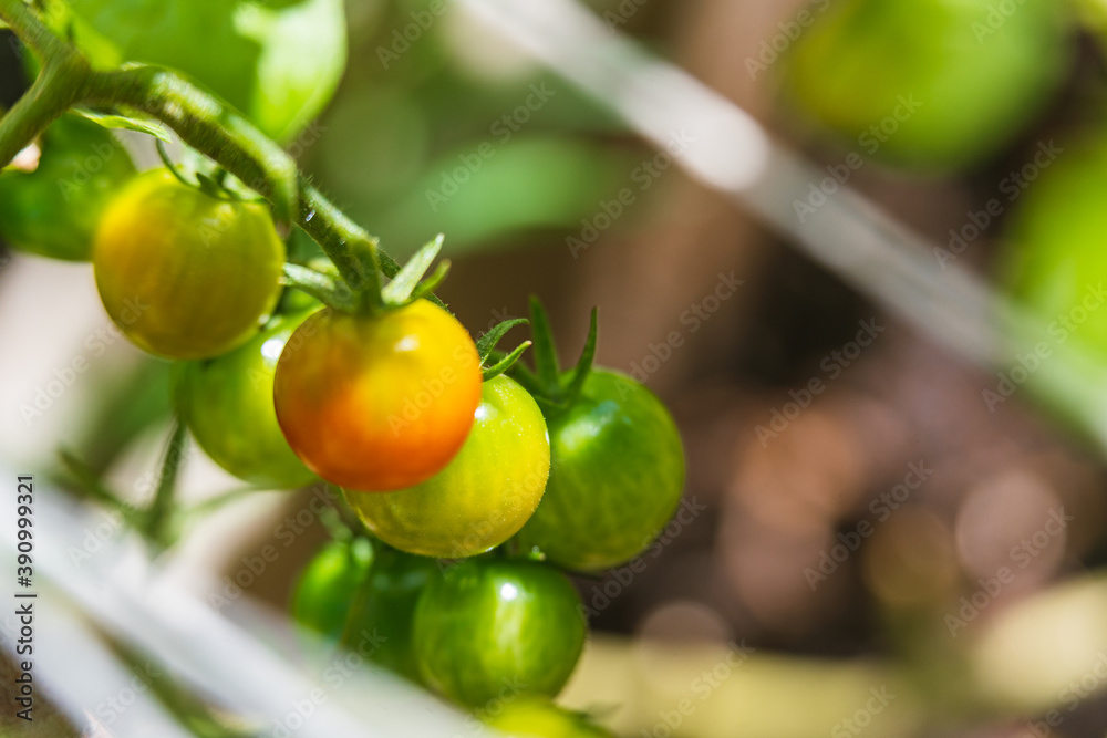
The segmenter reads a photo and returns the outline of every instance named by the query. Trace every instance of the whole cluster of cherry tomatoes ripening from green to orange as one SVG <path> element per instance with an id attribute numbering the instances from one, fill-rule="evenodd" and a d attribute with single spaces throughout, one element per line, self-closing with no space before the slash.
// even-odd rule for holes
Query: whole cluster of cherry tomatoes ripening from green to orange
<path id="1" fill-rule="evenodd" d="M 89 125 L 65 119 L 49 137 L 100 135 Z M 40 176 L 63 156 L 48 148 Z M 121 331 L 176 362 L 177 412 L 213 461 L 259 488 L 343 490 L 350 532 L 303 573 L 294 617 L 335 643 L 379 632 L 377 664 L 462 706 L 505 700 L 509 685 L 507 725 L 603 735 L 544 701 L 588 632 L 568 574 L 650 545 L 677 507 L 684 456 L 653 394 L 592 366 L 594 313 L 562 372 L 537 301 L 529 370 L 517 360 L 530 341 L 497 349 L 528 321 L 475 342 L 426 290 L 390 292 L 399 276 L 376 302 L 282 300 L 289 253 L 268 207 L 218 171 L 192 183 L 118 156 L 65 238 L 41 218 L 7 226 L 29 250 L 91 259 Z"/>

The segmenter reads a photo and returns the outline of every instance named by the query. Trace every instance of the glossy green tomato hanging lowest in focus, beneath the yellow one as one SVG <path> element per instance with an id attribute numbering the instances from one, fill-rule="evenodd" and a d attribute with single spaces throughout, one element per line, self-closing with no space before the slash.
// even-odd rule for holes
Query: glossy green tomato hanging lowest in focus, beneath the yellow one
<path id="1" fill-rule="evenodd" d="M 426 684 L 482 707 L 497 698 L 556 695 L 586 633 L 580 597 L 562 574 L 535 561 L 480 557 L 427 585 L 412 644 Z"/>

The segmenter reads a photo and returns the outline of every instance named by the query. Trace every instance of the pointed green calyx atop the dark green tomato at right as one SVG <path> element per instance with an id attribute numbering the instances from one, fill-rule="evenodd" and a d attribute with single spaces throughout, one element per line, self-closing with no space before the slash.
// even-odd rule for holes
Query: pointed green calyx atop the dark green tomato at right
<path id="1" fill-rule="evenodd" d="M 580 358 L 577 360 L 577 365 L 566 373 L 560 367 L 557 345 L 554 343 L 554 331 L 550 329 L 546 309 L 538 298 L 530 298 L 530 331 L 535 343 L 535 371 L 530 371 L 523 364 L 516 364 L 511 368 L 510 377 L 534 395 L 535 401 L 548 417 L 562 413 L 572 406 L 584 387 L 584 381 L 592 372 L 592 364 L 596 361 L 597 318 L 598 310 L 593 308 L 584 349 L 580 353 Z"/>

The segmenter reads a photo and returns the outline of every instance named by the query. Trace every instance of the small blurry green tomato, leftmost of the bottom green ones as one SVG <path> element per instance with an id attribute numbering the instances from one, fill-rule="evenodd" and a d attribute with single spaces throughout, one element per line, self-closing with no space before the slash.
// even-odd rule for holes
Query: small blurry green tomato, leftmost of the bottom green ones
<path id="1" fill-rule="evenodd" d="M 338 643 L 372 563 L 373 548 L 364 538 L 329 543 L 300 574 L 292 594 L 292 617 Z"/>

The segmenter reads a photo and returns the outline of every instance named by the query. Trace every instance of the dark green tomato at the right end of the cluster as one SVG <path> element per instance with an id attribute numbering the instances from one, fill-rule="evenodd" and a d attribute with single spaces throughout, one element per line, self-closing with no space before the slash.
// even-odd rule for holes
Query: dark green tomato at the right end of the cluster
<path id="1" fill-rule="evenodd" d="M 519 541 L 575 571 L 630 561 L 680 505 L 684 449 L 669 410 L 630 377 L 593 370 L 547 424 L 550 479 Z"/>

